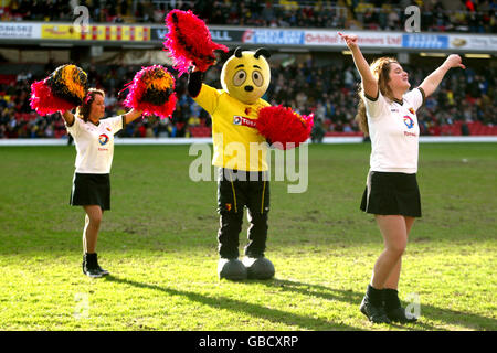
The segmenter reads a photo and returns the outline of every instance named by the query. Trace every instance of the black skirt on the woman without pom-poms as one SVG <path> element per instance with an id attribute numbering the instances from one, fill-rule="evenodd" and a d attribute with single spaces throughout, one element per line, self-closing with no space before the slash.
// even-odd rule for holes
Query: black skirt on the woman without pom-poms
<path id="1" fill-rule="evenodd" d="M 416 174 L 370 172 L 360 208 L 372 214 L 421 217 Z"/>

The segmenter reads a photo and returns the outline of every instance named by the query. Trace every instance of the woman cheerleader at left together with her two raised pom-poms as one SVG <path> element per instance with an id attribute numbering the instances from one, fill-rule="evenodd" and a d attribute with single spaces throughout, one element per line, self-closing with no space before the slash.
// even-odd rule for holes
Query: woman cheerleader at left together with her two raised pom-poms
<path id="1" fill-rule="evenodd" d="M 98 265 L 95 250 L 102 215 L 110 210 L 114 135 L 141 115 L 170 117 L 177 103 L 175 78 L 160 65 L 142 67 L 125 89 L 128 95 L 124 105 L 131 110 L 102 119 L 105 93 L 87 89 L 87 74 L 73 64 L 62 65 L 45 79 L 31 85 L 31 107 L 40 115 L 60 111 L 76 146 L 70 204 L 83 206 L 86 213 L 83 274 L 89 277 L 108 275 Z M 77 107 L 76 115 L 71 113 L 74 107 Z"/>

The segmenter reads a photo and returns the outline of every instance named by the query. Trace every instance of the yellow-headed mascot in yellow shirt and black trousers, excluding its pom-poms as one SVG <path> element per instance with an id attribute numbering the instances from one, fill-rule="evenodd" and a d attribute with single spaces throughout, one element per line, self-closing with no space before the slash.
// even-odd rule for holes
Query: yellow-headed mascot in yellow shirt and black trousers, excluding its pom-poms
<path id="1" fill-rule="evenodd" d="M 189 94 L 212 117 L 213 164 L 219 167 L 220 278 L 268 279 L 275 272 L 273 264 L 264 257 L 269 212 L 267 143 L 255 128 L 260 109 L 269 106 L 261 99 L 271 82 L 265 58 L 268 56 L 264 49 L 256 52 L 236 49 L 221 72 L 223 89 L 202 84 L 200 71 L 193 72 L 189 79 Z M 239 234 L 244 207 L 248 212 L 250 227 L 242 263 L 239 260 Z"/>

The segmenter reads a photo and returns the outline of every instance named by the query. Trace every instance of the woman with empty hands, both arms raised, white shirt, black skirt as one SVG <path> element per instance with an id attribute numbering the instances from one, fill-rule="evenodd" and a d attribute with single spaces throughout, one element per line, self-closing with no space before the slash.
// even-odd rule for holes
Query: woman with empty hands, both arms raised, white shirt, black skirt
<path id="1" fill-rule="evenodd" d="M 361 210 L 374 214 L 384 240 L 360 311 L 376 323 L 413 322 L 416 318 L 401 307 L 398 285 L 409 233 L 415 217 L 421 217 L 416 110 L 448 69 L 465 66 L 458 55 L 450 55 L 419 87 L 409 90 L 408 73 L 398 61 L 380 57 L 368 65 L 357 35 L 339 35 L 352 52 L 362 81 L 356 119 L 371 138 L 370 171 Z"/>

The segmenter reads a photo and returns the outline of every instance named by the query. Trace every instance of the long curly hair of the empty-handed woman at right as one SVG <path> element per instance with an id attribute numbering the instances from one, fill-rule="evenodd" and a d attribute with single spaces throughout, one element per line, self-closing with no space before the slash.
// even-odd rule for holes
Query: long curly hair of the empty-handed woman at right
<path id="1" fill-rule="evenodd" d="M 390 69 L 393 63 L 399 64 L 399 62 L 392 57 L 380 57 L 377 58 L 369 65 L 374 78 L 377 78 L 378 82 L 378 88 L 383 97 L 387 97 L 391 100 L 393 100 L 393 93 L 392 89 L 390 89 L 389 81 L 390 81 Z M 356 121 L 359 125 L 359 128 L 362 132 L 364 132 L 366 136 L 369 135 L 369 126 L 368 126 L 368 118 L 366 116 L 366 105 L 364 100 L 362 98 L 363 96 L 363 88 L 362 85 L 360 85 L 359 90 L 359 104 L 357 107 L 357 115 L 356 115 Z M 374 98 L 374 97 L 371 97 Z"/>

